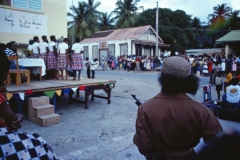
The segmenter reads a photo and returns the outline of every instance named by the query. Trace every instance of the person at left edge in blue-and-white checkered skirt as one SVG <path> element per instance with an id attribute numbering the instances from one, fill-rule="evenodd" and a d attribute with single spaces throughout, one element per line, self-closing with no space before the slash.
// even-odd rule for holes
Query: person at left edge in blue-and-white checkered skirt
<path id="1" fill-rule="evenodd" d="M 16 132 L 23 116 L 15 114 L 5 98 L 4 81 L 10 62 L 0 47 L 0 159 L 57 159 L 47 142 L 36 133 Z"/>

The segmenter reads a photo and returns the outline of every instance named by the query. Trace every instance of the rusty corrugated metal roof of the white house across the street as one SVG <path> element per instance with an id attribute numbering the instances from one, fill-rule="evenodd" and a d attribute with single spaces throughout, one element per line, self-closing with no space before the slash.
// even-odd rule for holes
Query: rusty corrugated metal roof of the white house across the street
<path id="1" fill-rule="evenodd" d="M 150 25 L 147 25 L 147 26 L 134 27 L 134 28 L 116 29 L 116 30 L 113 30 L 110 34 L 106 34 L 106 36 L 104 37 L 90 36 L 82 40 L 80 43 L 104 42 L 104 41 L 121 40 L 121 39 L 137 39 L 140 35 L 142 35 L 148 29 L 152 29 L 152 27 Z M 104 32 L 109 33 L 110 31 L 101 31 L 101 32 L 96 32 L 94 34 L 95 35 L 99 33 L 104 34 Z M 155 33 L 154 30 L 153 32 Z M 162 43 L 161 39 L 160 39 L 160 42 Z"/>

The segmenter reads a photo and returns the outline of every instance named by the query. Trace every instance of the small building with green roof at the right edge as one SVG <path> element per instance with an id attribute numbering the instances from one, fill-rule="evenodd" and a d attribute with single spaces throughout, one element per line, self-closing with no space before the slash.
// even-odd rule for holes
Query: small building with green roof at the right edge
<path id="1" fill-rule="evenodd" d="M 217 43 L 225 44 L 225 56 L 234 54 L 240 56 L 240 30 L 234 30 L 216 40 Z"/>

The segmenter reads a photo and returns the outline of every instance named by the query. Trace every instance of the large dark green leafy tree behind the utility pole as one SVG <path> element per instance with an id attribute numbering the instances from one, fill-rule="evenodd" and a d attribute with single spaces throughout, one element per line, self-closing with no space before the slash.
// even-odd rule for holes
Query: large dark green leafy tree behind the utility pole
<path id="1" fill-rule="evenodd" d="M 189 48 L 198 48 L 198 34 L 192 29 L 193 25 L 199 29 L 200 20 L 191 19 L 182 10 L 172 11 L 167 8 L 159 8 L 159 35 L 164 43 L 170 44 L 172 52 L 182 51 Z M 193 23 L 194 22 L 194 23 Z M 136 26 L 156 26 L 156 9 L 148 9 L 139 15 Z"/>

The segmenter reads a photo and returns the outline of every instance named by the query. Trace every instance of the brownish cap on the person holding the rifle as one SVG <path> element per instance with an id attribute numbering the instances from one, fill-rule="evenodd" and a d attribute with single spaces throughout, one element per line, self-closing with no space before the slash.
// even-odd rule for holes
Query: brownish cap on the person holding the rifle
<path id="1" fill-rule="evenodd" d="M 177 77 L 187 77 L 191 73 L 191 65 L 182 57 L 172 56 L 163 60 L 161 72 Z"/>

